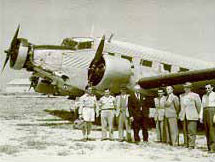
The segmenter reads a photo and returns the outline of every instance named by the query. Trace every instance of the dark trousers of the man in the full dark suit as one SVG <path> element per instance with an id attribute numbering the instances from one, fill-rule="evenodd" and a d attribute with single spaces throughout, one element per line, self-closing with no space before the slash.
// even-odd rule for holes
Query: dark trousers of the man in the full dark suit
<path id="1" fill-rule="evenodd" d="M 140 129 L 142 129 L 143 141 L 148 141 L 148 120 L 148 118 L 134 119 L 132 125 L 134 130 L 135 142 L 140 141 Z"/>

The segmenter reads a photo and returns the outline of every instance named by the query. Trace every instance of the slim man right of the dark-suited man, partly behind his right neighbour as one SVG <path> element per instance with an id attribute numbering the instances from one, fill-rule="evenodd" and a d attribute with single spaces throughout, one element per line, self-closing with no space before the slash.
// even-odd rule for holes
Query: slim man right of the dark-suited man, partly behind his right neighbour
<path id="1" fill-rule="evenodd" d="M 164 104 L 166 102 L 166 96 L 164 96 L 164 90 L 158 90 L 158 97 L 154 98 L 155 103 L 155 117 L 154 120 L 156 122 L 156 133 L 157 133 L 157 140 L 159 142 L 164 142 L 166 138 L 164 138 Z"/>

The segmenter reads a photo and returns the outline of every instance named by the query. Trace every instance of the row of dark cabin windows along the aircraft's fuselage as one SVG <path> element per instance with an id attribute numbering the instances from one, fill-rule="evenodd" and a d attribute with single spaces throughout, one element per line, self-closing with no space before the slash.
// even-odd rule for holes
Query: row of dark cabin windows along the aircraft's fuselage
<path id="1" fill-rule="evenodd" d="M 114 56 L 115 54 L 114 53 L 109 53 L 109 55 Z M 121 55 L 121 58 L 127 59 L 130 62 L 132 62 L 132 57 L 130 57 L 130 56 Z M 169 71 L 169 72 L 172 71 L 172 65 L 164 64 L 164 63 L 160 63 L 160 64 L 163 66 L 163 69 L 165 71 Z M 153 62 L 141 59 L 140 60 L 140 65 L 146 66 L 146 67 L 152 67 L 153 66 Z M 185 71 L 189 71 L 189 69 L 180 67 L 179 70 L 178 70 L 178 72 L 185 72 Z"/>

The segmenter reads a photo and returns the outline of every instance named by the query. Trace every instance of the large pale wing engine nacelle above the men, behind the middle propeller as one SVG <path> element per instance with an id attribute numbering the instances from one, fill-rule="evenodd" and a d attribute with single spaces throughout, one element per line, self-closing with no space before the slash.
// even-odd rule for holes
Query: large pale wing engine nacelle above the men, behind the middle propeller
<path id="1" fill-rule="evenodd" d="M 131 74 L 130 61 L 103 55 L 99 63 L 90 65 L 88 78 L 96 89 L 110 88 L 112 92 L 118 93 L 122 85 L 129 83 Z"/>

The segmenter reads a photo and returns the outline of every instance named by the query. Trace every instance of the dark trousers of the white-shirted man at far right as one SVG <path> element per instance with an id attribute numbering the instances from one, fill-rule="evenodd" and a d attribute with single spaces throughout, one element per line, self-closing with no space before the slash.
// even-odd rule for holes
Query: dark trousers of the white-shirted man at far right
<path id="1" fill-rule="evenodd" d="M 215 124 L 213 123 L 215 107 L 204 108 L 203 110 L 203 122 L 205 127 L 205 135 L 207 138 L 208 150 L 215 152 Z"/>

